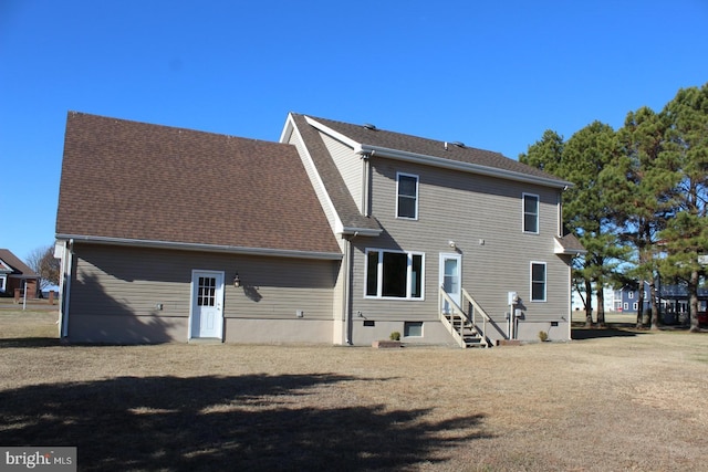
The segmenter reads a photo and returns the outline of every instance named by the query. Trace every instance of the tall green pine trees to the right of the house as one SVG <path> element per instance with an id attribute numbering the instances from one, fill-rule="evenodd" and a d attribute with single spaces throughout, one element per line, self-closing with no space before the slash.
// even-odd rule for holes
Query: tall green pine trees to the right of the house
<path id="1" fill-rule="evenodd" d="M 568 140 L 548 129 L 521 162 L 574 183 L 563 196 L 563 222 L 587 253 L 573 280 L 591 325 L 596 287 L 604 325 L 604 286 L 639 286 L 637 325 L 644 326 L 649 285 L 653 329 L 659 325 L 658 280 L 688 287 L 690 329 L 698 331 L 698 287 L 708 254 L 708 83 L 681 88 L 659 112 L 641 107 L 624 126 L 594 122 Z"/>

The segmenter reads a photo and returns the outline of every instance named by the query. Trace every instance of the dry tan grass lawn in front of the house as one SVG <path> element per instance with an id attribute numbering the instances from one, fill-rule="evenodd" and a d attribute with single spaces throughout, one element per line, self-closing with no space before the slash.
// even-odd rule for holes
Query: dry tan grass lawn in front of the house
<path id="1" fill-rule="evenodd" d="M 55 318 L 0 311 L 0 444 L 75 445 L 79 470 L 708 470 L 706 334 L 60 346 Z"/>

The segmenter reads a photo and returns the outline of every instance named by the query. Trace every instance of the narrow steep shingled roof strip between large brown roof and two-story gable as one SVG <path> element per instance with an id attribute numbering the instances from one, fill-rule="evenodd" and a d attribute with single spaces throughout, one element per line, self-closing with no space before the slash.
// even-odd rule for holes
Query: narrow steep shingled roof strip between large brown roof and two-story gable
<path id="1" fill-rule="evenodd" d="M 292 113 L 292 119 L 302 137 L 304 146 L 312 158 L 322 183 L 326 190 L 334 210 L 346 231 L 381 231 L 381 225 L 373 218 L 362 214 L 354 202 L 352 193 L 346 188 L 342 175 L 337 170 L 332 156 L 327 151 L 320 133 L 313 128 L 303 115 Z M 345 231 L 345 232 L 346 232 Z"/>

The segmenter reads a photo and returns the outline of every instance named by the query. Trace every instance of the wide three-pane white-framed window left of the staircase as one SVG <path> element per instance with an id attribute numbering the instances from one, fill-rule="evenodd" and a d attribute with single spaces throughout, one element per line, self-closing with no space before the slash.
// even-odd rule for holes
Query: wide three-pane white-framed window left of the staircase
<path id="1" fill-rule="evenodd" d="M 369 298 L 424 298 L 421 252 L 366 250 L 364 296 Z"/>

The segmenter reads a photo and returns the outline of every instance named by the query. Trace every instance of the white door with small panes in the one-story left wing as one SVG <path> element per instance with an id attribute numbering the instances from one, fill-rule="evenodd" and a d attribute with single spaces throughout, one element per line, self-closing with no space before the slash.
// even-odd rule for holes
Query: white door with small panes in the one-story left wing
<path id="1" fill-rule="evenodd" d="M 191 272 L 190 337 L 221 339 L 223 333 L 223 272 Z"/>

